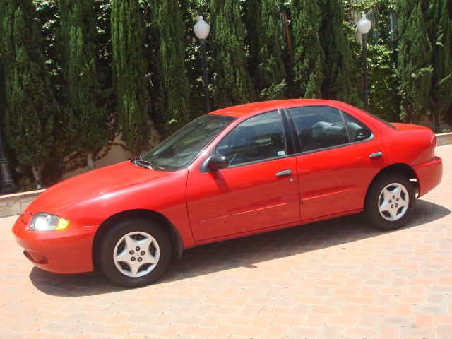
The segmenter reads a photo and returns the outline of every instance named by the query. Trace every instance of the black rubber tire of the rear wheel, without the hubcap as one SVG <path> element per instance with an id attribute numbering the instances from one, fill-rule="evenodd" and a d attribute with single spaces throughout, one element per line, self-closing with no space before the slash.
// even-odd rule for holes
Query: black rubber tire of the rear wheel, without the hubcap
<path id="1" fill-rule="evenodd" d="M 405 187 L 408 193 L 408 206 L 404 214 L 398 220 L 387 220 L 386 218 L 391 218 L 390 215 L 386 215 L 386 218 L 384 218 L 379 210 L 380 194 L 386 186 L 393 183 L 400 184 Z M 413 184 L 410 182 L 410 179 L 397 172 L 383 174 L 381 177 L 376 179 L 367 192 L 366 201 L 364 203 L 364 215 L 366 215 L 367 220 L 371 223 L 371 225 L 379 228 L 380 230 L 396 230 L 397 228 L 405 225 L 405 223 L 410 219 L 415 208 L 415 202 L 415 189 Z"/>

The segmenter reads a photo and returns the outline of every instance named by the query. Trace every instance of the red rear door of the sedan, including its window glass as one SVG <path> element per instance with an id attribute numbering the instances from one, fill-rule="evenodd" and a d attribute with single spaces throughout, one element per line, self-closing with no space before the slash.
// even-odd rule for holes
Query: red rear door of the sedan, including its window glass
<path id="1" fill-rule="evenodd" d="M 288 112 L 301 145 L 297 172 L 302 220 L 362 209 L 371 180 L 387 162 L 379 132 L 335 107 Z"/>

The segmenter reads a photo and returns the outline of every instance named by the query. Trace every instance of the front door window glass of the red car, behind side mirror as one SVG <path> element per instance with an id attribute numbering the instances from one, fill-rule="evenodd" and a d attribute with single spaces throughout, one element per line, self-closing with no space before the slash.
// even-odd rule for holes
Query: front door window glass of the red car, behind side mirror
<path id="1" fill-rule="evenodd" d="M 230 166 L 283 157 L 287 154 L 278 111 L 259 114 L 233 129 L 218 145 Z"/>

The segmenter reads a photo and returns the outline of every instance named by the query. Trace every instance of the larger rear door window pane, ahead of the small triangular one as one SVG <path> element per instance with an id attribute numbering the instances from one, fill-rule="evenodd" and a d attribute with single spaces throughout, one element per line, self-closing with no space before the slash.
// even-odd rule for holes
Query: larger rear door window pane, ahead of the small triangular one
<path id="1" fill-rule="evenodd" d="M 338 109 L 307 106 L 289 109 L 303 152 L 349 143 L 347 130 Z"/>

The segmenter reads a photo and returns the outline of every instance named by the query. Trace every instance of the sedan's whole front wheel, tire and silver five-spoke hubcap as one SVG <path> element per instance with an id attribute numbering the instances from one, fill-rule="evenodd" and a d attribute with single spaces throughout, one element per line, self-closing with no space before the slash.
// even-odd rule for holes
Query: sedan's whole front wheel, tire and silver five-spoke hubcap
<path id="1" fill-rule="evenodd" d="M 137 287 L 161 278 L 171 253 L 169 236 L 160 225 L 133 218 L 118 222 L 105 234 L 99 261 L 104 274 L 114 283 Z"/>

